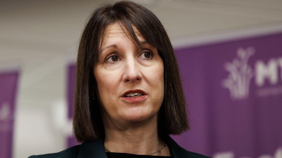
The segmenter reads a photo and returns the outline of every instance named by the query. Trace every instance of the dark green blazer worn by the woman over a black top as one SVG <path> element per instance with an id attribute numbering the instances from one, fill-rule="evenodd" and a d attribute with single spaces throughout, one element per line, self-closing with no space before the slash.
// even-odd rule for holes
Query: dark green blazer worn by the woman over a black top
<path id="1" fill-rule="evenodd" d="M 207 156 L 192 153 L 181 148 L 170 136 L 166 136 L 164 140 L 168 145 L 170 154 L 173 158 L 208 158 Z M 33 155 L 28 158 L 107 158 L 104 140 L 98 139 L 93 142 L 82 143 L 81 145 L 76 145 L 63 150 L 59 153 L 44 154 L 44 155 Z"/>

